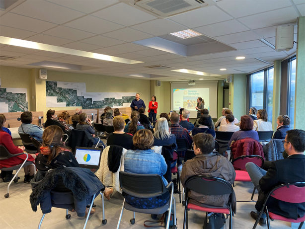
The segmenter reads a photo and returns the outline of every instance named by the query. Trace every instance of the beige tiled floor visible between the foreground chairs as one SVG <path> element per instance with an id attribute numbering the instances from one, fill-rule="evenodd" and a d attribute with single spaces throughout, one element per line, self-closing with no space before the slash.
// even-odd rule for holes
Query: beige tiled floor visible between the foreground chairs
<path id="1" fill-rule="evenodd" d="M 29 202 L 29 195 L 31 193 L 30 184 L 23 183 L 23 171 L 20 171 L 20 180 L 17 183 L 12 183 L 10 187 L 10 196 L 5 199 L 4 194 L 8 183 L 0 182 L 0 229 L 32 229 L 37 228 L 40 218 L 42 216 L 41 210 L 38 206 L 38 211 L 33 212 Z M 251 183 L 236 182 L 234 191 L 236 193 L 237 201 L 249 201 L 253 185 Z M 257 194 L 254 199 L 257 198 Z M 179 204 L 179 196 L 175 194 L 177 201 L 177 228 L 183 228 L 183 212 L 184 207 Z M 101 199 L 97 197 L 95 200 L 96 213 L 89 218 L 87 229 L 113 229 L 116 228 L 118 218 L 122 207 L 123 198 L 120 195 L 115 195 L 110 201 L 105 201 L 105 216 L 107 224 L 102 225 L 102 208 Z M 235 229 L 250 229 L 254 225 L 254 220 L 250 217 L 250 211 L 254 210 L 255 202 L 237 202 L 237 213 L 233 217 L 233 228 Z M 71 219 L 66 220 L 65 210 L 52 208 L 52 212 L 47 214 L 43 223 L 43 229 L 74 229 L 82 228 L 84 218 L 79 218 L 76 213 L 71 213 Z M 191 210 L 189 212 L 189 228 L 202 229 L 205 213 Z M 143 222 L 150 218 L 149 215 L 136 213 L 136 223 L 131 225 L 129 220 L 132 218 L 132 212 L 127 210 L 123 213 L 120 228 L 139 229 L 144 228 Z M 290 223 L 282 221 L 271 222 L 273 229 L 288 229 Z M 162 228 L 162 227 L 160 227 Z M 257 229 L 261 229 L 258 225 Z M 267 227 L 266 227 L 267 228 Z M 305 228 L 305 226 L 303 227 Z M 229 220 L 225 229 L 229 229 Z"/>

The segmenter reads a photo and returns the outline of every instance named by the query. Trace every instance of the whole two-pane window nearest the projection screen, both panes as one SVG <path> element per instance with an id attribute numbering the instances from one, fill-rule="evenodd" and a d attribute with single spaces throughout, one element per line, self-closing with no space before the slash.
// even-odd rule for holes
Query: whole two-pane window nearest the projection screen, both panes
<path id="1" fill-rule="evenodd" d="M 271 67 L 250 75 L 250 107 L 266 109 L 268 121 L 272 120 L 273 70 Z"/>

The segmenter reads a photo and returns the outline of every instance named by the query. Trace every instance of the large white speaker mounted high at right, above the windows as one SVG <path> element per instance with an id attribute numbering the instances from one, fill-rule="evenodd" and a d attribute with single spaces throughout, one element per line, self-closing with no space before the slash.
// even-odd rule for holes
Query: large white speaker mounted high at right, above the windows
<path id="1" fill-rule="evenodd" d="M 278 26 L 275 30 L 275 51 L 290 50 L 294 47 L 294 26 Z"/>

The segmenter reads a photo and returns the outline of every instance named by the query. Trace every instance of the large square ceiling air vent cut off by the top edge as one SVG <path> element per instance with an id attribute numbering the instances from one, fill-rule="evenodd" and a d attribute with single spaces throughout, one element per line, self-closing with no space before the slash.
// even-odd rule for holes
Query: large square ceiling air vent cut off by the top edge
<path id="1" fill-rule="evenodd" d="M 213 0 L 120 0 L 154 16 L 166 18 L 193 9 L 215 4 Z"/>

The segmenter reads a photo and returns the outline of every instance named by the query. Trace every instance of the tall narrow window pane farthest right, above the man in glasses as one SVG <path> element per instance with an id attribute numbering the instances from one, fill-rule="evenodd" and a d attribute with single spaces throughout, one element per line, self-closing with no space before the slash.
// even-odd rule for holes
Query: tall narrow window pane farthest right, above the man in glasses
<path id="1" fill-rule="evenodd" d="M 290 117 L 290 128 L 294 128 L 295 118 L 295 91 L 296 91 L 297 59 L 293 57 L 288 61 L 289 90 L 287 99 L 287 114 Z"/>

